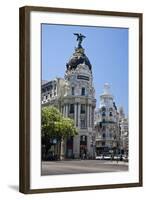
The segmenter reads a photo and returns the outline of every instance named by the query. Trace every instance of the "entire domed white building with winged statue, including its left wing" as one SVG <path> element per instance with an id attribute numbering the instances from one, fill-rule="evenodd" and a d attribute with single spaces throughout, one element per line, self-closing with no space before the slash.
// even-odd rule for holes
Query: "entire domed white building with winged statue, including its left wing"
<path id="1" fill-rule="evenodd" d="M 42 106 L 58 107 L 65 117 L 74 120 L 78 129 L 78 135 L 64 141 L 64 157 L 94 158 L 96 99 L 92 65 L 81 46 L 84 36 L 76 35 L 78 45 L 66 64 L 64 78 L 42 83 Z"/>

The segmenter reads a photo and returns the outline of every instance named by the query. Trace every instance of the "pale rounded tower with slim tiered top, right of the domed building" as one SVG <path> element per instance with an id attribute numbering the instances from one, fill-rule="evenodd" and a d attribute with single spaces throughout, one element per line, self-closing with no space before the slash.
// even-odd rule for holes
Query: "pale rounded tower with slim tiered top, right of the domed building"
<path id="1" fill-rule="evenodd" d="M 105 83 L 100 95 L 96 118 L 96 152 L 97 155 L 115 154 L 120 149 L 120 132 L 117 107 L 110 92 L 110 85 Z"/>

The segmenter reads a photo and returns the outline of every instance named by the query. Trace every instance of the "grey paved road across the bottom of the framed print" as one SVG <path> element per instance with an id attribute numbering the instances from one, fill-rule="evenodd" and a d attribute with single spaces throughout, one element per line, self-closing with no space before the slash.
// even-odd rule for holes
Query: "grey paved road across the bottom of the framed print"
<path id="1" fill-rule="evenodd" d="M 65 160 L 42 162 L 42 175 L 127 171 L 128 163 L 106 160 Z"/>

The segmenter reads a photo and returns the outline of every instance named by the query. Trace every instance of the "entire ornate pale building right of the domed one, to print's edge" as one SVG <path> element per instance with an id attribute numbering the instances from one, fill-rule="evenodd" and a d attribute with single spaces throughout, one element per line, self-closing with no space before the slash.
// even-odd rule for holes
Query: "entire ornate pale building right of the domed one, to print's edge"
<path id="1" fill-rule="evenodd" d="M 95 118 L 96 153 L 121 155 L 128 152 L 128 123 L 123 108 L 117 109 L 110 85 L 104 85 Z"/>

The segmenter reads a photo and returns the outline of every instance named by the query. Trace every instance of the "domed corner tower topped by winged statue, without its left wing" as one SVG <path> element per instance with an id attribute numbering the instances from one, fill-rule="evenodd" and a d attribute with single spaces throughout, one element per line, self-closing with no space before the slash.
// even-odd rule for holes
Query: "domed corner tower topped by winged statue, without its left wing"
<path id="1" fill-rule="evenodd" d="M 96 107 L 92 65 L 81 46 L 83 36 L 77 35 L 78 46 L 66 64 L 64 116 L 74 119 L 79 134 L 73 138 L 75 158 L 95 157 L 94 110 Z M 67 157 L 71 150 L 67 147 Z"/>

